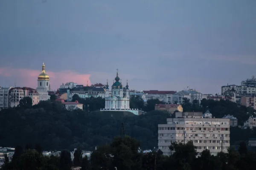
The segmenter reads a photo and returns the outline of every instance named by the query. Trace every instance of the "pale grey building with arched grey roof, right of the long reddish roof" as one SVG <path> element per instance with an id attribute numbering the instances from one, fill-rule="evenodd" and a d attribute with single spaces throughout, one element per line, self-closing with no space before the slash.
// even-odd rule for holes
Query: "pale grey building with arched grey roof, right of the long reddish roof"
<path id="1" fill-rule="evenodd" d="M 178 103 L 182 103 L 183 98 L 189 99 L 189 101 L 191 103 L 194 100 L 198 100 L 198 102 L 201 103 L 201 100 L 204 99 L 203 95 L 200 92 L 195 91 L 193 89 L 189 89 L 187 91 L 179 91 L 179 92 L 175 93 L 172 97 L 173 97 L 172 101 L 178 102 Z M 204 97 L 206 97 L 206 96 L 204 96 Z"/>

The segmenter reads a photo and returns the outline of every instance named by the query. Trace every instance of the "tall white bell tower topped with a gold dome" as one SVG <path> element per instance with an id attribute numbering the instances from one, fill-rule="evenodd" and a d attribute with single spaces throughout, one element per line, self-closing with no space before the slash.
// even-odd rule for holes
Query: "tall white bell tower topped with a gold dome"
<path id="1" fill-rule="evenodd" d="M 42 72 L 38 76 L 38 87 L 36 88 L 39 94 L 39 101 L 50 99 L 50 96 L 48 94 L 49 88 L 50 88 L 49 76 L 45 72 L 45 65 L 43 62 Z"/>

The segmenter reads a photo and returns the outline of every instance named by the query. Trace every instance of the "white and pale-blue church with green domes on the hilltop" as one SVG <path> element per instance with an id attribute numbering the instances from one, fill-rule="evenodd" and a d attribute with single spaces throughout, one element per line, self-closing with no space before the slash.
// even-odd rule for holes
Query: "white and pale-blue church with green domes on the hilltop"
<path id="1" fill-rule="evenodd" d="M 128 81 L 126 86 L 122 86 L 122 82 L 118 77 L 118 70 L 116 72 L 116 82 L 113 82 L 111 86 L 111 95 L 109 95 L 109 86 L 107 82 L 106 86 L 106 97 L 105 97 L 105 109 L 101 111 L 129 111 L 138 115 L 138 109 L 130 109 L 130 96 L 129 96 L 129 86 Z"/>

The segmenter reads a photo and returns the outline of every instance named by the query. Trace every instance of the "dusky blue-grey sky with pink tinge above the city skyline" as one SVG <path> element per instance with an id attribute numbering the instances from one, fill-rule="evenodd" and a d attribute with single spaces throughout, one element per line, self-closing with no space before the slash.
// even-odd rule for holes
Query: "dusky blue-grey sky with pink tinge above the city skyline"
<path id="1" fill-rule="evenodd" d="M 256 0 L 0 0 L 0 86 L 215 94 L 256 75 Z"/>

